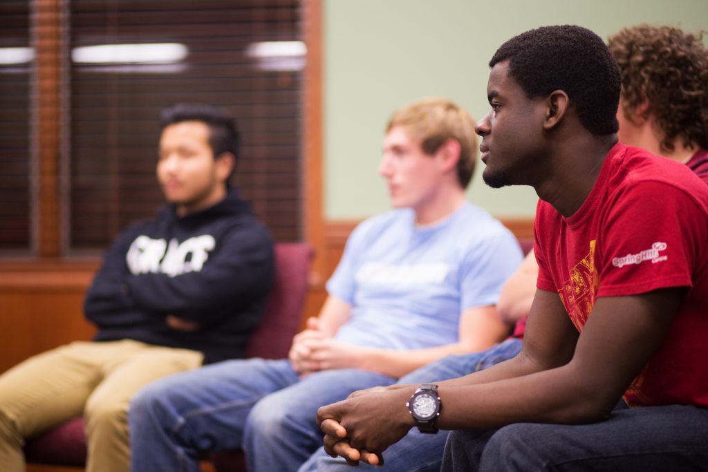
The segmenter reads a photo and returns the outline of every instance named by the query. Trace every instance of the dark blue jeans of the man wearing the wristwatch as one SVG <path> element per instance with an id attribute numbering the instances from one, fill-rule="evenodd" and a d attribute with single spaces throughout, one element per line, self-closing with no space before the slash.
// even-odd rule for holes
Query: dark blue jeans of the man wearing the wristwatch
<path id="1" fill-rule="evenodd" d="M 440 470 L 708 471 L 707 437 L 706 408 L 628 408 L 590 425 L 516 423 L 451 432 Z"/>

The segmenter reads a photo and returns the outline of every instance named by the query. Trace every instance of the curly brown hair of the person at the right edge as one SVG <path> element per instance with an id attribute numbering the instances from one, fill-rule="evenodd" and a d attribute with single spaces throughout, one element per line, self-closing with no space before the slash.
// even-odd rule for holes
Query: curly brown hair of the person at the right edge
<path id="1" fill-rule="evenodd" d="M 702 32 L 636 25 L 610 37 L 622 76 L 622 112 L 630 120 L 644 100 L 661 129 L 660 146 L 673 151 L 677 138 L 708 149 L 708 49 Z"/>

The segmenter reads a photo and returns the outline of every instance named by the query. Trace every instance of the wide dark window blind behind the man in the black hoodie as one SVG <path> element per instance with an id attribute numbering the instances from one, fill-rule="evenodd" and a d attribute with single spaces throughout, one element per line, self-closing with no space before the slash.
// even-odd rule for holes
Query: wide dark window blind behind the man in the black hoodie
<path id="1" fill-rule="evenodd" d="M 103 248 L 164 205 L 155 177 L 159 113 L 177 102 L 222 105 L 236 117 L 233 183 L 278 241 L 301 237 L 300 15 L 292 0 L 69 2 L 70 251 Z M 78 54 L 101 45 L 148 49 L 142 59 Z"/>

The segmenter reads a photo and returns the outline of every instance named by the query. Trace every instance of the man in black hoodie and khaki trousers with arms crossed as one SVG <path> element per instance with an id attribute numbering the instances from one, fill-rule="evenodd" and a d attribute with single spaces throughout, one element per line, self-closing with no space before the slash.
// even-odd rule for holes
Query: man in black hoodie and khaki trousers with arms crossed
<path id="1" fill-rule="evenodd" d="M 98 328 L 0 376 L 0 470 L 25 438 L 84 415 L 86 471 L 130 471 L 127 408 L 159 377 L 242 357 L 273 280 L 273 241 L 228 181 L 239 134 L 207 105 L 163 111 L 157 178 L 170 203 L 120 234 L 86 296 Z"/>

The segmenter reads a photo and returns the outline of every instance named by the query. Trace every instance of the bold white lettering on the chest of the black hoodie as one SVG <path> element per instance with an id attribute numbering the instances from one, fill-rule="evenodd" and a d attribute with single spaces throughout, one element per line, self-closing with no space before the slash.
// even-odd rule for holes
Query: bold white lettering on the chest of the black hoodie
<path id="1" fill-rule="evenodd" d="M 209 251 L 215 247 L 216 240 L 210 234 L 194 236 L 181 243 L 173 238 L 169 246 L 164 239 L 142 235 L 132 242 L 125 260 L 133 275 L 162 273 L 175 277 L 202 270 L 209 258 Z"/>

